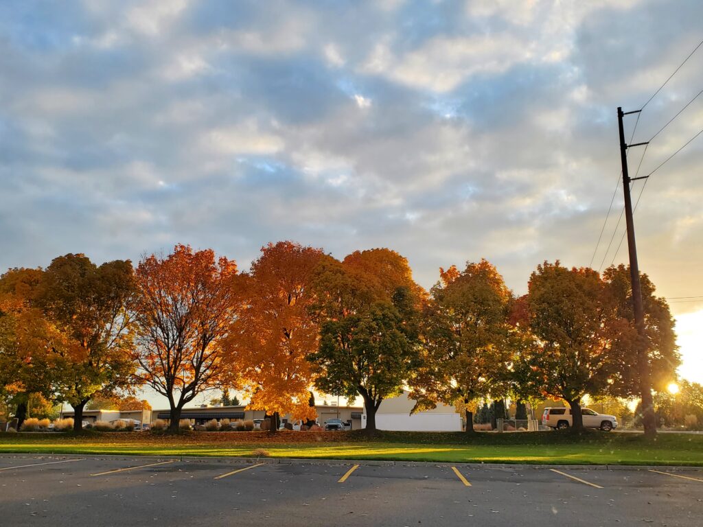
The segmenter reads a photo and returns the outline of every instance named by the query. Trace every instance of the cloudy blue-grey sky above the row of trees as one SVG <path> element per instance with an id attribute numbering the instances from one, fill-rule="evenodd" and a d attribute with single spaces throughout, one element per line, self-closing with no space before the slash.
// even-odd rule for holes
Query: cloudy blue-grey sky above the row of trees
<path id="1" fill-rule="evenodd" d="M 245 269 L 295 240 L 390 247 L 424 287 L 485 257 L 522 294 L 545 260 L 624 262 L 616 109 L 643 107 L 700 20 L 698 0 L 3 2 L 0 268 L 186 243 Z M 702 89 L 700 48 L 628 139 Z M 701 129 L 703 96 L 631 149 L 631 175 Z M 697 382 L 702 164 L 703 135 L 636 209 L 640 269 Z"/>

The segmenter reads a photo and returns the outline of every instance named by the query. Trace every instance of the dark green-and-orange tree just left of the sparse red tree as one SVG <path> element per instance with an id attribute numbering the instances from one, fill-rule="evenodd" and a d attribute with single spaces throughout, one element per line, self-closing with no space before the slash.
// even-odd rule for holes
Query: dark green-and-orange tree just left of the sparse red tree
<path id="1" fill-rule="evenodd" d="M 127 260 L 96 266 L 83 254 L 59 256 L 46 268 L 36 304 L 65 337 L 57 349 L 57 396 L 82 429 L 86 403 L 96 393 L 128 388 L 135 363 L 129 353 L 134 270 Z"/>

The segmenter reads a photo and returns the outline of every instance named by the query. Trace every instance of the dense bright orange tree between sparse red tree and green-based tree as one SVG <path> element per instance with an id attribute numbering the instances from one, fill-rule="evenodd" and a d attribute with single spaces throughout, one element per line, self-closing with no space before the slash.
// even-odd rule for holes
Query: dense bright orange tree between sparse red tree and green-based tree
<path id="1" fill-rule="evenodd" d="M 228 367 L 250 398 L 247 408 L 266 410 L 275 424 L 279 415 L 316 417 L 308 405 L 313 375 L 306 359 L 318 345 L 311 278 L 324 257 L 321 249 L 293 242 L 269 244 L 238 280 L 242 307 L 227 339 Z"/>

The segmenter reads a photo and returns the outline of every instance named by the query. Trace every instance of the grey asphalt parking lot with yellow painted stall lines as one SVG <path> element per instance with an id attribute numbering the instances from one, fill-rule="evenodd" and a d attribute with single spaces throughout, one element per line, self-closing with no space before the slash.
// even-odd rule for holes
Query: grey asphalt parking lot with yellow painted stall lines
<path id="1" fill-rule="evenodd" d="M 0 526 L 703 525 L 703 469 L 0 457 Z"/>

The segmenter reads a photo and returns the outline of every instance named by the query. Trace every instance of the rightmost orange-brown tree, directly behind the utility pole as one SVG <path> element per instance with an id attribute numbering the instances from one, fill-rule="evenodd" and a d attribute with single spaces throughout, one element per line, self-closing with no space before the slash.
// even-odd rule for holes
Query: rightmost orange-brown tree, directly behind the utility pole
<path id="1" fill-rule="evenodd" d="M 643 402 L 651 401 L 652 388 L 658 392 L 664 391 L 676 379 L 676 368 L 681 364 L 669 304 L 655 296 L 654 284 L 646 274 L 640 273 L 645 314 L 645 339 L 640 339 L 632 308 L 629 266 L 621 264 L 607 268 L 603 280 L 616 303 L 615 316 L 622 322 L 621 333 L 613 343 L 618 351 L 615 354 L 618 367 L 616 380 L 609 391 L 614 396 L 640 396 Z M 643 353 L 638 353 L 638 346 L 643 347 Z M 644 368 L 640 365 L 640 358 L 646 361 Z M 654 409 L 650 406 L 649 410 L 653 416 Z M 643 413 L 646 411 L 647 408 L 644 408 Z"/>

